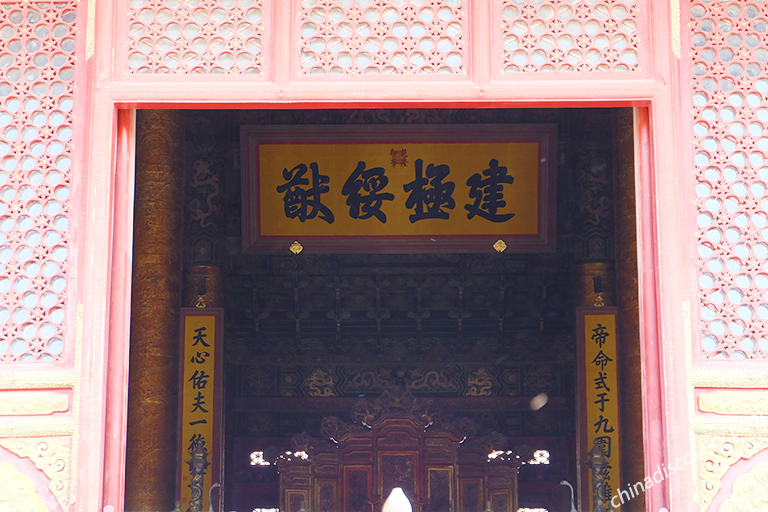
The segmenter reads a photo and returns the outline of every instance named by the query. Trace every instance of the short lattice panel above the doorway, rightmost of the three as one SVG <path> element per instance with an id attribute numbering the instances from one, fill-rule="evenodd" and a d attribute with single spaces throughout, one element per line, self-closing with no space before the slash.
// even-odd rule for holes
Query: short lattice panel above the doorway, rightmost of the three
<path id="1" fill-rule="evenodd" d="M 640 71 L 635 0 L 503 0 L 501 74 Z"/>

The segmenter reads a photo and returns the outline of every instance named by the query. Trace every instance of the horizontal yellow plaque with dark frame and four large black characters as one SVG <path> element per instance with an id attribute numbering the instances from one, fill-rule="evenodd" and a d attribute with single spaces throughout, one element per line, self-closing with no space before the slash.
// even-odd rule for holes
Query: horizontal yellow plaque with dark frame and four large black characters
<path id="1" fill-rule="evenodd" d="M 244 127 L 245 250 L 552 248 L 554 128 Z"/>

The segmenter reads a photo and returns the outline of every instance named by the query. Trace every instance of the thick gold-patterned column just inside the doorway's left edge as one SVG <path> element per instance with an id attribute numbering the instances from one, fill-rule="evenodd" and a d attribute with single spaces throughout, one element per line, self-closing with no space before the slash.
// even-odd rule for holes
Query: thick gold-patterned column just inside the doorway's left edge
<path id="1" fill-rule="evenodd" d="M 175 505 L 184 139 L 183 111 L 137 112 L 127 511 Z"/>

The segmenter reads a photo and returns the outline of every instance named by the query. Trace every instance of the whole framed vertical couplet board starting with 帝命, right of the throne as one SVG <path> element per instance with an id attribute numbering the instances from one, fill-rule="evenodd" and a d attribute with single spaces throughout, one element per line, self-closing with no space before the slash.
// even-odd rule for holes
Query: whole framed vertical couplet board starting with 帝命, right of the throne
<path id="1" fill-rule="evenodd" d="M 607 459 L 606 470 L 599 475 L 603 501 L 610 503 L 621 490 L 616 308 L 578 308 L 576 316 L 579 488 L 582 507 L 597 510 L 594 503 L 593 472 L 585 463 L 596 444 L 603 449 Z"/>

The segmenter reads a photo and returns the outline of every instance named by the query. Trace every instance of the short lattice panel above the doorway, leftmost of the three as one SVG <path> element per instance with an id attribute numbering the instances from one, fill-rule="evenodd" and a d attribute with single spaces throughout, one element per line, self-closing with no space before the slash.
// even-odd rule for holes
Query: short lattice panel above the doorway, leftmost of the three
<path id="1" fill-rule="evenodd" d="M 126 74 L 262 75 L 263 0 L 131 0 Z"/>

